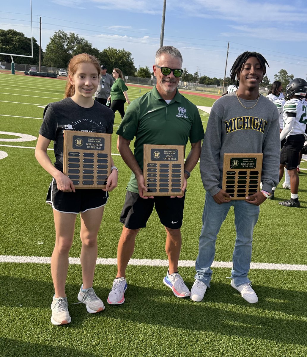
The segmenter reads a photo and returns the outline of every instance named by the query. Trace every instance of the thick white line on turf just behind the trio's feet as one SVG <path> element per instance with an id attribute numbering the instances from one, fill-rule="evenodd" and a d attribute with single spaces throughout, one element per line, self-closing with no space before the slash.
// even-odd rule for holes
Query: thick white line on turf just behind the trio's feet
<path id="1" fill-rule="evenodd" d="M 50 264 L 51 257 L 26 257 L 26 256 L 12 256 L 0 255 L 0 263 L 39 263 Z M 69 258 L 70 264 L 80 265 L 80 258 Z M 97 265 L 116 265 L 116 258 L 98 258 Z M 154 266 L 154 267 L 168 267 L 168 260 L 162 259 L 130 259 L 129 265 L 138 266 Z M 179 260 L 180 267 L 195 267 L 194 260 Z M 214 261 L 212 264 L 214 268 L 232 268 L 232 262 L 218 262 Z M 275 264 L 275 263 L 251 263 L 251 269 L 265 269 L 265 270 L 298 270 L 307 271 L 307 265 L 301 264 Z"/>

